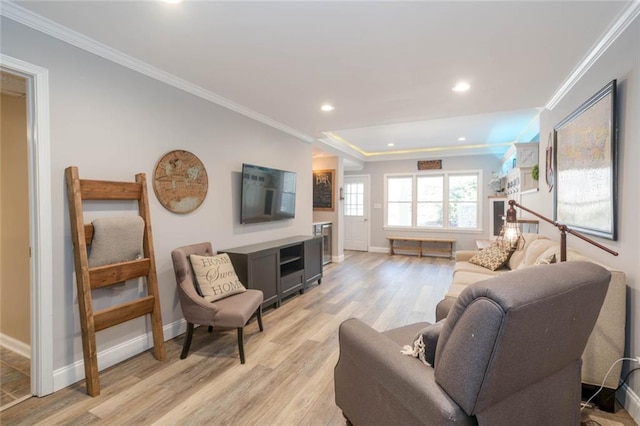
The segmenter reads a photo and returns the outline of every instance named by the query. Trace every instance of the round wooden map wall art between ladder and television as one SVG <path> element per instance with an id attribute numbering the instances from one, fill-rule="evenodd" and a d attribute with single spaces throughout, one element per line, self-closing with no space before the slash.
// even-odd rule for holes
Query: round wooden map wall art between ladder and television
<path id="1" fill-rule="evenodd" d="M 153 191 L 158 201 L 174 213 L 189 213 L 200 207 L 208 189 L 207 170 L 189 151 L 167 153 L 153 172 Z"/>

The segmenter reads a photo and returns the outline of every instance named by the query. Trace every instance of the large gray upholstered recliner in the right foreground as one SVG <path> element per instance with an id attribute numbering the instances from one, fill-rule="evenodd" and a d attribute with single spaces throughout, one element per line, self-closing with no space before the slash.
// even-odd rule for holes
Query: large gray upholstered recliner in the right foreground
<path id="1" fill-rule="evenodd" d="M 347 320 L 336 404 L 354 425 L 578 425 L 580 357 L 609 279 L 588 262 L 535 266 L 470 285 L 433 325 Z M 400 353 L 417 335 L 433 367 Z"/>

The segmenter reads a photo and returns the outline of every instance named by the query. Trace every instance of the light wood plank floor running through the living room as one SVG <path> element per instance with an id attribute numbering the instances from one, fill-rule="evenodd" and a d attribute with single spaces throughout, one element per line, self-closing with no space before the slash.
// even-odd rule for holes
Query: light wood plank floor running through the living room
<path id="1" fill-rule="evenodd" d="M 350 317 L 378 330 L 433 322 L 453 269 L 444 258 L 346 257 L 327 265 L 321 285 L 265 311 L 263 333 L 255 320 L 247 326 L 244 365 L 235 330 L 199 327 L 185 360 L 179 336 L 167 342 L 165 362 L 145 352 L 102 371 L 96 398 L 82 381 L 3 411 L 0 423 L 343 425 L 333 391 L 338 325 Z"/>

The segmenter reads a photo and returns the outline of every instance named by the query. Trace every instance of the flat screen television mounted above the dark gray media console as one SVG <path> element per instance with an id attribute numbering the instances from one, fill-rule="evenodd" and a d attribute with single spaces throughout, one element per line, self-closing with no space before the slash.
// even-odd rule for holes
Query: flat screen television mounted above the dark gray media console
<path id="1" fill-rule="evenodd" d="M 295 172 L 242 165 L 240 223 L 293 219 L 295 213 Z"/>

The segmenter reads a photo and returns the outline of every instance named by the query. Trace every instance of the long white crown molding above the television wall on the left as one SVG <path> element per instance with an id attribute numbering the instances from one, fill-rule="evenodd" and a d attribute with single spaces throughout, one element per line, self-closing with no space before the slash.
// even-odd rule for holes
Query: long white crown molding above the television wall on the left
<path id="1" fill-rule="evenodd" d="M 301 139 L 307 143 L 311 143 L 315 138 L 302 133 L 296 129 L 293 129 L 279 121 L 273 120 L 265 115 L 262 115 L 252 109 L 244 107 L 236 102 L 233 102 L 225 97 L 217 95 L 209 90 L 206 90 L 196 84 L 190 83 L 187 80 L 176 77 L 166 71 L 156 68 L 146 62 L 140 61 L 132 56 L 129 56 L 119 50 L 113 49 L 103 43 L 100 43 L 90 37 L 82 35 L 76 31 L 73 31 L 63 25 L 60 25 L 50 19 L 40 16 L 31 12 L 13 2 L 2 1 L 0 4 L 0 15 L 5 16 L 13 21 L 30 27 L 36 31 L 47 34 L 58 40 L 64 41 L 72 46 L 83 49 L 94 55 L 100 56 L 108 61 L 114 62 L 130 70 L 136 71 L 140 74 L 151 77 L 162 83 L 173 86 L 179 90 L 190 93 L 199 98 L 205 99 L 214 104 L 220 105 L 231 111 L 242 114 L 253 120 L 259 121 L 267 126 L 278 129 L 282 132 L 288 133 Z"/>

